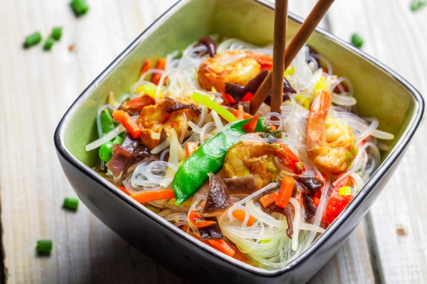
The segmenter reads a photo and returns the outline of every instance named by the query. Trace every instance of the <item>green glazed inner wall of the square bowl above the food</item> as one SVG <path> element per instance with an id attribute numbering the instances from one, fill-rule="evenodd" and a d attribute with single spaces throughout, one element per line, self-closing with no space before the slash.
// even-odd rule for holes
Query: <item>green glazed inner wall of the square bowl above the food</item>
<path id="1" fill-rule="evenodd" d="M 273 16 L 272 4 L 255 0 L 180 1 L 142 33 L 70 107 L 58 127 L 61 147 L 83 167 L 94 167 L 97 149 L 85 152 L 85 145 L 97 139 L 97 109 L 105 105 L 110 92 L 118 99 L 130 91 L 146 58 L 155 60 L 182 51 L 209 34 L 241 38 L 260 46 L 269 44 L 273 42 Z M 288 38 L 292 38 L 301 21 L 290 15 Z M 310 36 L 308 44 L 329 59 L 335 75 L 352 82 L 358 114 L 376 117 L 380 130 L 394 134 L 395 139 L 387 142 L 389 150 L 381 153 L 382 164 L 388 159 L 389 163 L 394 162 L 421 120 L 421 95 L 381 63 L 321 29 Z"/>

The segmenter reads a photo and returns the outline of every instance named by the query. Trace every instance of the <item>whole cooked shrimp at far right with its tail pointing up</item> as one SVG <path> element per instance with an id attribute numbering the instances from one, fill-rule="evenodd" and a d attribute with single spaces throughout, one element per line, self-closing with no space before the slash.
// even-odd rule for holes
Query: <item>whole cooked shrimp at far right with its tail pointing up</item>
<path id="1" fill-rule="evenodd" d="M 339 174 L 357 154 L 356 137 L 349 126 L 327 115 L 330 105 L 330 93 L 321 90 L 308 114 L 307 154 L 316 167 Z"/>

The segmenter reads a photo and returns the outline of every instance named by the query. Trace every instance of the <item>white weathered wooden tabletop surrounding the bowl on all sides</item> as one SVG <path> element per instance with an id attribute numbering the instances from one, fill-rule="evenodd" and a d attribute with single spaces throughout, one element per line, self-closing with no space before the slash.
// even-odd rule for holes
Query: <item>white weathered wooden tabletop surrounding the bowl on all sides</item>
<path id="1" fill-rule="evenodd" d="M 364 51 L 427 93 L 427 7 L 412 12 L 410 1 L 337 0 L 322 26 L 345 40 L 357 31 Z M 0 274 L 7 283 L 185 283 L 83 204 L 60 209 L 75 194 L 53 146 L 78 94 L 174 0 L 88 0 L 80 19 L 68 2 L 0 0 Z M 314 3 L 290 0 L 290 11 L 306 16 Z M 52 51 L 21 48 L 53 26 L 63 38 Z M 426 130 L 423 121 L 367 219 L 310 283 L 427 283 Z M 36 257 L 39 238 L 54 241 L 50 257 Z"/>

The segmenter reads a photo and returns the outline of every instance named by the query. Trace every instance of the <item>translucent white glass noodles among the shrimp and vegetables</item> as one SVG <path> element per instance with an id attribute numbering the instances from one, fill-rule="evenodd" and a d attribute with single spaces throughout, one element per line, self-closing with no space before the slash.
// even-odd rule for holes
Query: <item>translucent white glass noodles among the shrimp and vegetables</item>
<path id="1" fill-rule="evenodd" d="M 228 38 L 218 44 L 217 47 L 218 53 L 232 50 L 253 51 L 270 56 L 273 54 L 272 46 L 254 46 L 237 38 Z M 223 102 L 221 93 L 216 92 L 216 90 L 200 90 L 199 81 L 196 78 L 197 69 L 208 58 L 208 55 L 199 56 L 201 52 L 206 52 L 206 46 L 194 46 L 193 43 L 182 51 L 181 57 L 179 57 L 178 51 L 170 53 L 166 57 L 164 70 L 151 69 L 142 74 L 139 80 L 132 85 L 130 94 L 122 95 L 120 102 L 141 95 L 142 90 L 153 92 L 155 90 L 154 94 L 150 93 L 149 95 L 154 96 L 156 102 L 161 98 L 169 97 L 189 103 L 191 102 L 191 94 L 196 91 L 221 104 Z M 226 58 L 221 64 L 230 64 L 244 57 L 246 54 L 240 53 Z M 324 71 L 322 67 L 327 70 Z M 149 75 L 154 73 L 160 75 L 157 85 L 148 80 Z M 376 118 L 359 117 L 352 112 L 352 110 L 356 110 L 354 106 L 357 105 L 357 99 L 354 98 L 354 88 L 350 80 L 333 75 L 330 61 L 324 56 L 310 53 L 307 46 L 297 53 L 290 67 L 285 71 L 285 78 L 296 90 L 296 93 L 290 94 L 290 99 L 283 102 L 283 105 L 280 106 L 280 112 L 270 112 L 270 107 L 265 104 L 260 107 L 258 112 L 266 123 L 275 125 L 277 130 L 282 132 L 282 138 L 238 135 L 231 130 L 231 127 L 237 122 L 223 125 L 223 120 L 215 110 L 208 110 L 204 105 L 198 104 L 197 107 L 201 110 L 199 119 L 193 122 L 191 121 L 193 119 L 187 117 L 183 112 L 184 115 L 179 121 L 179 125 L 182 125 L 179 130 L 181 131 L 179 137 L 176 134 L 178 128 L 172 127 L 170 131 L 168 128 L 167 138 L 151 150 L 152 157 L 130 167 L 127 178 L 122 182 L 123 185 L 131 193 L 170 188 L 174 175 L 179 169 L 179 163 L 186 159 L 182 147 L 186 146 L 188 142 L 196 142 L 200 147 L 218 133 L 223 133 L 226 139 L 234 142 L 285 143 L 307 169 L 299 175 L 300 177 L 323 179 L 322 173 L 316 169 L 307 155 L 306 132 L 310 105 L 320 89 L 327 90 L 331 94 L 334 104 L 330 107 L 328 114 L 352 129 L 356 137 L 358 152 L 349 169 L 339 178 L 327 174 L 315 216 L 310 219 L 310 222 L 303 218 L 307 211 L 304 203 L 300 204 L 295 197 L 290 198 L 289 204 L 294 209 L 293 213 L 290 214 L 293 227 L 292 239 L 288 237 L 286 232 L 288 229 L 286 217 L 277 212 L 267 214 L 257 201 L 261 195 L 266 194 L 266 191 L 278 188 L 283 177 L 295 176 L 291 169 L 280 163 L 278 157 L 273 158 L 275 166 L 279 170 L 281 169 L 275 180 L 249 195 L 231 194 L 230 199 L 233 205 L 228 210 L 203 214 L 210 184 L 201 186 L 201 189 L 192 196 L 191 205 L 186 203 L 185 206 L 176 206 L 174 199 L 149 202 L 149 206 L 154 206 L 153 211 L 159 211 L 159 216 L 170 221 L 174 226 L 188 226 L 189 230 L 196 235 L 199 234 L 199 231 L 194 227 L 194 220 L 190 220 L 192 212 L 201 213 L 201 216 L 217 216 L 218 224 L 224 236 L 236 244 L 239 251 L 246 253 L 252 261 L 258 263 L 260 268 L 283 268 L 300 256 L 312 245 L 319 234 L 325 231 L 325 228 L 322 228 L 322 226 L 325 227 L 322 223 L 322 216 L 334 186 L 342 182 L 343 179 L 351 177 L 353 194 L 357 194 L 371 174 L 379 167 L 381 162 L 379 149 L 388 149 L 386 143 L 378 142 L 378 140 L 394 139 L 394 135 L 391 133 L 378 130 L 380 122 Z M 140 88 L 141 86 L 145 86 L 145 88 Z M 99 139 L 86 145 L 88 151 L 100 147 L 103 143 L 114 139 L 115 136 L 125 131 L 125 128 L 119 125 L 103 135 L 100 114 L 105 109 L 116 110 L 116 107 L 104 105 L 98 109 L 97 132 Z M 240 107 L 238 118 L 242 117 L 243 107 Z M 132 119 L 137 120 L 137 116 L 132 117 Z M 191 131 L 188 132 L 188 130 Z M 159 140 L 160 136 L 160 133 L 157 130 L 154 131 L 153 127 L 151 139 Z M 168 157 L 167 161 L 166 157 Z M 100 166 L 103 169 L 102 162 Z M 107 171 L 107 174 L 112 177 L 111 172 Z M 218 176 L 223 177 L 223 175 L 222 171 L 218 172 Z M 304 191 L 300 184 L 296 184 L 296 187 L 298 191 Z M 245 216 L 239 217 L 239 219 L 235 218 L 236 210 L 244 212 Z M 255 221 L 249 222 L 250 218 Z"/>

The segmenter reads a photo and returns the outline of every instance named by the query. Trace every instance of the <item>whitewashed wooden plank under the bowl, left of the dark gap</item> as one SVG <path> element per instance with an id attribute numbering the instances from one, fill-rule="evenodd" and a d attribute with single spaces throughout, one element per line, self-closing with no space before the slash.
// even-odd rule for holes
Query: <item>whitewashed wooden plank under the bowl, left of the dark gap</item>
<path id="1" fill-rule="evenodd" d="M 292 1 L 290 9 L 305 16 L 314 2 Z M 63 1 L 0 1 L 0 198 L 8 283 L 183 282 L 122 241 L 83 204 L 76 213 L 60 209 L 63 198 L 75 194 L 52 141 L 78 93 L 173 3 L 90 1 L 88 15 L 75 19 Z M 47 36 L 58 25 L 63 38 L 51 52 L 21 49 L 28 33 Z M 359 226 L 311 282 L 372 282 L 364 234 Z M 39 238 L 53 239 L 50 257 L 35 257 Z"/>

